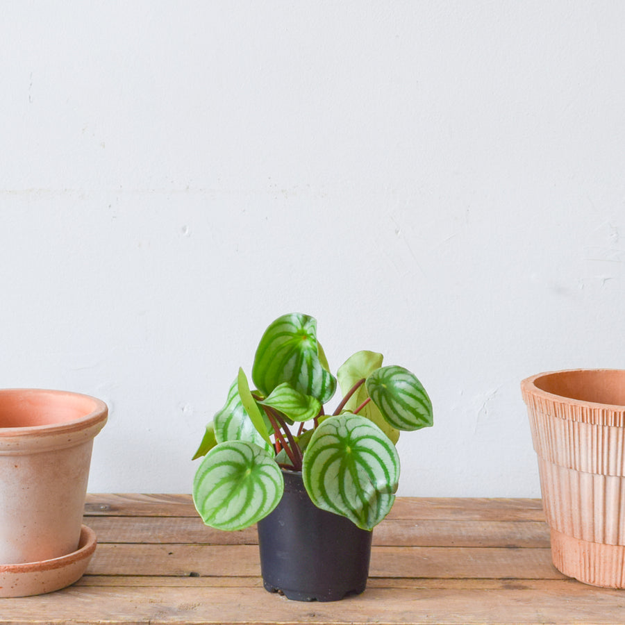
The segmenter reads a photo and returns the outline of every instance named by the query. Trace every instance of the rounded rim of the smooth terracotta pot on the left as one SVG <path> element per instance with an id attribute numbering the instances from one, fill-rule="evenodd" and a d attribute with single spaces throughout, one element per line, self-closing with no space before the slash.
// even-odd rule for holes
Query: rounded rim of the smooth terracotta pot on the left
<path id="1" fill-rule="evenodd" d="M 0 398 L 3 395 L 18 394 L 24 397 L 31 395 L 52 395 L 55 397 L 72 397 L 74 399 L 85 399 L 92 404 L 92 410 L 82 417 L 72 419 L 67 422 L 31 425 L 31 426 L 10 426 L 0 427 L 0 439 L 12 440 L 15 438 L 31 437 L 33 435 L 55 435 L 58 433 L 73 433 L 85 430 L 94 426 L 103 427 L 108 419 L 108 406 L 101 399 L 91 395 L 74 391 L 44 389 L 44 388 L 3 388 L 0 389 Z"/>

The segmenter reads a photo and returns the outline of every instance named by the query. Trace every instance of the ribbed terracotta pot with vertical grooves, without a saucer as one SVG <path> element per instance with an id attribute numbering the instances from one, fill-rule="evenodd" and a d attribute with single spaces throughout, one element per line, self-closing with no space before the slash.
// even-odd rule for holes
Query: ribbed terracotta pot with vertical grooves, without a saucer
<path id="1" fill-rule="evenodd" d="M 574 369 L 521 383 L 553 564 L 625 588 L 625 371 Z"/>

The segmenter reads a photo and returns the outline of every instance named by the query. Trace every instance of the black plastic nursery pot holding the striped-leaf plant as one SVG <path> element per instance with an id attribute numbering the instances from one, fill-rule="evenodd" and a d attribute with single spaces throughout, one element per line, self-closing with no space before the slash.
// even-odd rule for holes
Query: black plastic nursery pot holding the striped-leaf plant
<path id="1" fill-rule="evenodd" d="M 258 522 L 260 569 L 269 592 L 295 601 L 338 601 L 365 590 L 372 532 L 319 510 L 301 473 L 284 471 L 284 495 Z"/>

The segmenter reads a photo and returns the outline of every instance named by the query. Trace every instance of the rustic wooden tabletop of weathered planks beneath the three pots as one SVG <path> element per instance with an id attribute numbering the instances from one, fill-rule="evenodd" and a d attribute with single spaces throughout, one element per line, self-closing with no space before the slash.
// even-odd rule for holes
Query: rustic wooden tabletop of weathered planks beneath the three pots
<path id="1" fill-rule="evenodd" d="M 397 499 L 367 590 L 336 603 L 265 591 L 256 531 L 207 528 L 188 495 L 92 494 L 85 523 L 87 574 L 0 599 L 0 623 L 625 623 L 625 591 L 553 568 L 538 499 Z"/>

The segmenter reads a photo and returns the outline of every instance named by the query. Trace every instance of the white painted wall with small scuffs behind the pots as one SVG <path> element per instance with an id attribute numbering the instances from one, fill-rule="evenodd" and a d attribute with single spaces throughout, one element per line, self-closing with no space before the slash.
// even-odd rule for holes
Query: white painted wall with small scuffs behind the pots
<path id="1" fill-rule="evenodd" d="M 624 367 L 625 3 L 3 2 L 0 385 L 189 492 L 269 322 L 428 388 L 400 494 L 538 496 L 519 381 Z"/>

